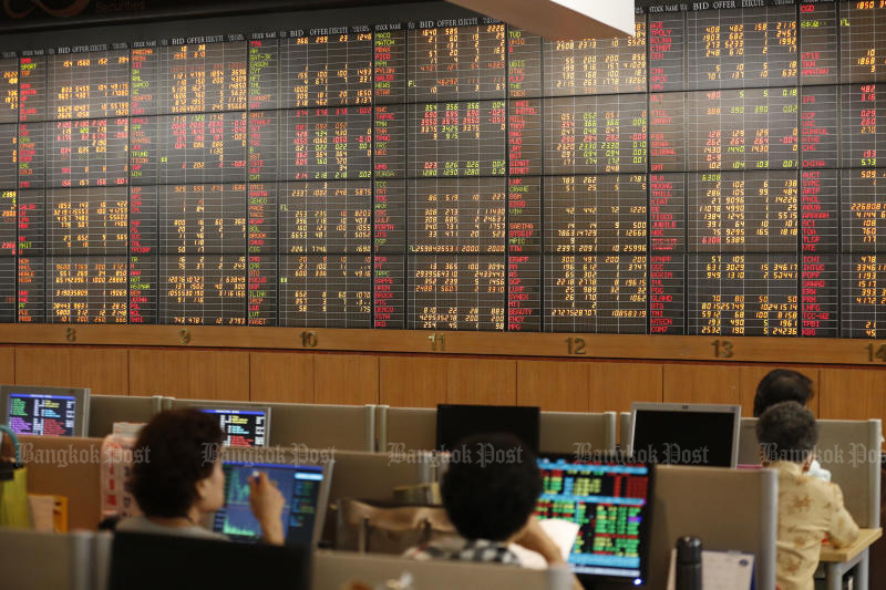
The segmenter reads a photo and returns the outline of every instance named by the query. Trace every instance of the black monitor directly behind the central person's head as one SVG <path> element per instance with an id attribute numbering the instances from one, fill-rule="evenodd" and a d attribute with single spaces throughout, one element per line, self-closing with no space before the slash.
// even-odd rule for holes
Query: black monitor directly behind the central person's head
<path id="1" fill-rule="evenodd" d="M 537 406 L 440 404 L 436 406 L 436 448 L 452 451 L 465 436 L 513 434 L 538 454 L 542 412 Z"/>

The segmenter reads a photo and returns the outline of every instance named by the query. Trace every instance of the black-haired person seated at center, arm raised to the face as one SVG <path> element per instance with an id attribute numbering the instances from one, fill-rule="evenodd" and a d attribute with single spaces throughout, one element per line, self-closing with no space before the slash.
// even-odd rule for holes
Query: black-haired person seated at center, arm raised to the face
<path id="1" fill-rule="evenodd" d="M 515 542 L 545 558 L 549 566 L 565 566 L 559 548 L 535 518 L 542 494 L 542 475 L 532 452 L 512 435 L 470 436 L 457 446 L 466 460 L 450 463 L 440 491 L 443 506 L 461 539 L 414 547 L 413 559 L 455 559 L 521 566 L 508 549 Z M 482 453 L 512 460 L 481 460 Z M 463 458 L 466 453 L 463 453 Z M 576 578 L 574 588 L 581 586 Z"/>

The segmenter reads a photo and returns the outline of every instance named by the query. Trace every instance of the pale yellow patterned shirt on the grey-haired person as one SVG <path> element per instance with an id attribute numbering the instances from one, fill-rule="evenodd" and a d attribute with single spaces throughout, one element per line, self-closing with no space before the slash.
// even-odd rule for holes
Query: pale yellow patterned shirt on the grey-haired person
<path id="1" fill-rule="evenodd" d="M 776 581 L 781 590 L 813 590 L 825 534 L 834 547 L 845 547 L 858 537 L 858 525 L 836 484 L 810 477 L 797 463 L 770 467 L 779 472 Z"/>

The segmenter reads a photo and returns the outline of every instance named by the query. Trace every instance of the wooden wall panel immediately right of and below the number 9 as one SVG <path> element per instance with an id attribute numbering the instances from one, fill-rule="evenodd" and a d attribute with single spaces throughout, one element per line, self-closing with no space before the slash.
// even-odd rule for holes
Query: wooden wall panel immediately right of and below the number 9
<path id="1" fill-rule="evenodd" d="M 249 401 L 249 353 L 188 351 L 188 397 Z"/>

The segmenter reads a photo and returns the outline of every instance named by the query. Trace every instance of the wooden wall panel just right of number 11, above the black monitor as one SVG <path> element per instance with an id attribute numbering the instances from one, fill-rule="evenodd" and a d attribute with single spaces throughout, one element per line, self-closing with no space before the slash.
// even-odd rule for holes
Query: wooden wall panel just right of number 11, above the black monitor
<path id="1" fill-rule="evenodd" d="M 517 361 L 447 359 L 446 401 L 451 404 L 517 404 Z"/>

